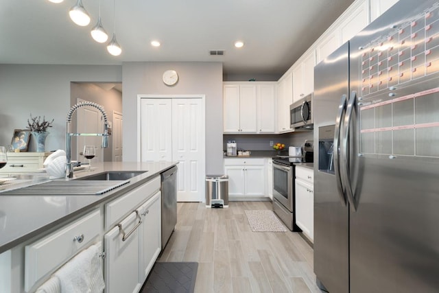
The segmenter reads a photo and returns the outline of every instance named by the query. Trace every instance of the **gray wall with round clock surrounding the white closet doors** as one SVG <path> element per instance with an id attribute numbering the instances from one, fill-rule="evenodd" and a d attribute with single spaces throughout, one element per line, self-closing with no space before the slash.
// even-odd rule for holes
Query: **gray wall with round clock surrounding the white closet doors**
<path id="1" fill-rule="evenodd" d="M 123 161 L 138 161 L 137 95 L 206 96 L 206 174 L 223 172 L 222 63 L 219 62 L 124 62 L 123 65 Z M 167 69 L 178 72 L 175 86 L 163 84 Z"/>

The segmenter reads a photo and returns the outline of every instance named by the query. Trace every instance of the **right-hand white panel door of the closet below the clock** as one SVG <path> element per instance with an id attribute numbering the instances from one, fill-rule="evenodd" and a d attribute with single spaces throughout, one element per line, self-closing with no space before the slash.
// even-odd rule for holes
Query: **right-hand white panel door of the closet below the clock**
<path id="1" fill-rule="evenodd" d="M 204 196 L 204 109 L 202 99 L 172 100 L 172 161 L 178 161 L 177 200 Z"/>

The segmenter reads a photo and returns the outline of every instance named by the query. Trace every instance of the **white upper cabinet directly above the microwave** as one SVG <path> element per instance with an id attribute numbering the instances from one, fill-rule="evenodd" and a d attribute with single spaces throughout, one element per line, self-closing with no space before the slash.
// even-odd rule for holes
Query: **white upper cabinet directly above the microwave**
<path id="1" fill-rule="evenodd" d="M 316 51 L 307 51 L 293 66 L 293 102 L 314 91 Z"/>

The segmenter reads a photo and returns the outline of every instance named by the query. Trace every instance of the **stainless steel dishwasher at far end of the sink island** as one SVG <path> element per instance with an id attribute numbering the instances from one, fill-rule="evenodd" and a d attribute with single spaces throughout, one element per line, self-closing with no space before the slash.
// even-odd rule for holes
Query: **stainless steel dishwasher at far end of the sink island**
<path id="1" fill-rule="evenodd" d="M 162 250 L 177 224 L 177 166 L 161 173 Z"/>

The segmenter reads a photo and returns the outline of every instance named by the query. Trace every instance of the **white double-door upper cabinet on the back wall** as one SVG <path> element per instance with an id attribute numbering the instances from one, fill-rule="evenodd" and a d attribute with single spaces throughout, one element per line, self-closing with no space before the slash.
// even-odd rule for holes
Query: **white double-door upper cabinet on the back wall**
<path id="1" fill-rule="evenodd" d="M 276 82 L 224 82 L 224 133 L 274 133 Z"/>

